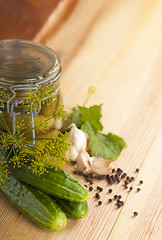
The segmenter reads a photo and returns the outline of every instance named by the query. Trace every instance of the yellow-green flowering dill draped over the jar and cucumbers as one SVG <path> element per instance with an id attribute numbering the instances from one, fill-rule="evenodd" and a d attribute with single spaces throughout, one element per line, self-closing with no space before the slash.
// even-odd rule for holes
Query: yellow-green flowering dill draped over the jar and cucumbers
<path id="1" fill-rule="evenodd" d="M 2 99 L 6 97 L 4 91 L 0 89 Z M 55 97 L 53 87 L 43 87 L 39 90 L 29 91 L 24 105 L 26 113 L 41 109 L 41 105 L 52 100 Z M 4 104 L 1 104 L 4 108 Z M 2 109 L 3 110 L 3 109 Z M 22 115 L 24 117 L 24 114 Z M 27 118 L 30 115 L 28 114 Z M 7 178 L 8 164 L 20 168 L 25 162 L 30 162 L 29 168 L 35 174 L 42 174 L 47 167 L 63 167 L 66 162 L 66 152 L 70 147 L 70 135 L 68 132 L 61 133 L 53 138 L 35 138 L 35 145 L 31 145 L 33 139 L 28 136 L 28 132 L 36 129 L 37 132 L 46 133 L 49 130 L 48 121 L 51 118 L 61 118 L 63 121 L 67 118 L 64 106 L 60 105 L 50 118 L 35 118 L 35 126 L 30 129 L 26 127 L 25 120 L 16 123 L 14 134 L 10 131 L 4 117 L 3 111 L 0 113 L 0 121 L 5 131 L 0 130 L 0 185 L 4 184 Z"/>

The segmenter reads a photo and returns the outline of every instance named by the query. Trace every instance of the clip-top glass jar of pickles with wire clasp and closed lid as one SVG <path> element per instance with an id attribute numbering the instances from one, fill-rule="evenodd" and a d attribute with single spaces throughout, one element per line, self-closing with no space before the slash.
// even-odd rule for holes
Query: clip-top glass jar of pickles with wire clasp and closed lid
<path id="1" fill-rule="evenodd" d="M 14 133 L 15 126 L 25 118 L 25 101 L 30 90 L 37 91 L 46 87 L 54 89 L 52 98 L 41 108 L 26 112 L 28 116 L 25 124 L 27 129 L 33 128 L 30 134 L 35 137 L 53 137 L 57 135 L 61 123 L 56 124 L 52 118 L 57 107 L 62 104 L 59 78 L 61 74 L 60 60 L 57 54 L 47 46 L 26 40 L 0 41 L 0 111 L 10 131 Z M 34 103 L 33 103 L 34 104 Z M 34 109 L 34 108 L 33 108 Z M 35 122 L 39 119 L 48 121 L 49 130 L 42 134 L 37 131 Z M 58 120 L 58 119 L 57 119 Z M 0 121 L 0 129 L 6 127 Z"/>

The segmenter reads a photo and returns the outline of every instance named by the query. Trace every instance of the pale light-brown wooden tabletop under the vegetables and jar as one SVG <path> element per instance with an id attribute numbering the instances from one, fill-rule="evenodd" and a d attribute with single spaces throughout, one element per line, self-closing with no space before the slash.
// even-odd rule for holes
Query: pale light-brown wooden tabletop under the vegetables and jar
<path id="1" fill-rule="evenodd" d="M 103 103 L 103 132 L 120 135 L 128 145 L 112 167 L 121 167 L 135 181 L 132 191 L 120 183 L 111 194 L 105 180 L 95 181 L 88 215 L 68 219 L 60 232 L 35 226 L 0 195 L 0 239 L 161 240 L 162 1 L 80 0 L 67 21 L 43 41 L 60 55 L 68 112 L 84 104 L 89 86 L 96 87 L 86 106 Z M 101 206 L 94 199 L 97 185 L 104 188 Z M 115 194 L 125 201 L 120 209 L 107 203 Z"/>

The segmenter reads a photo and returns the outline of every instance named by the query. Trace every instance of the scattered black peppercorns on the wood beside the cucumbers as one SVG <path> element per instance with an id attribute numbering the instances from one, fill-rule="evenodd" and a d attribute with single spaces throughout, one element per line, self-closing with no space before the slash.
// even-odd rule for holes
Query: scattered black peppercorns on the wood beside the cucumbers
<path id="1" fill-rule="evenodd" d="M 109 174 L 99 175 L 99 176 L 94 175 L 93 173 L 86 174 L 84 172 L 78 172 L 78 171 L 74 171 L 74 174 L 84 177 L 85 181 L 91 185 L 91 186 L 89 186 L 90 192 L 94 190 L 92 185 L 94 184 L 95 179 L 98 179 L 98 180 L 104 179 L 108 182 L 109 185 L 113 185 L 115 183 L 118 184 L 122 181 L 123 189 L 129 189 L 129 191 L 133 190 L 132 186 L 129 187 L 129 184 L 135 180 L 135 178 L 133 176 L 131 176 L 131 177 L 128 176 L 127 173 L 123 172 L 123 170 L 121 168 L 117 168 L 117 170 L 115 170 L 113 168 L 111 171 L 112 171 L 111 174 L 109 173 Z M 136 168 L 135 172 L 136 173 L 139 172 L 139 169 Z M 142 184 L 142 183 L 143 183 L 143 181 L 140 180 L 139 184 Z M 85 185 L 85 187 L 87 187 L 87 185 Z M 141 190 L 141 188 L 136 189 L 137 192 L 139 192 L 140 190 Z M 98 192 L 95 193 L 94 197 L 95 197 L 95 199 L 99 200 L 101 198 L 100 192 L 103 191 L 103 188 L 100 186 L 97 186 L 97 191 Z M 112 193 L 112 192 L 113 192 L 113 189 L 109 188 L 108 193 Z M 113 200 L 115 200 L 115 205 L 117 206 L 117 208 L 121 208 L 124 205 L 124 201 L 122 200 L 121 195 L 114 195 L 113 199 L 109 198 L 108 203 L 113 202 Z M 98 205 L 102 205 L 101 200 L 98 201 Z M 137 216 L 137 215 L 138 215 L 138 213 L 134 212 L 134 216 Z"/>

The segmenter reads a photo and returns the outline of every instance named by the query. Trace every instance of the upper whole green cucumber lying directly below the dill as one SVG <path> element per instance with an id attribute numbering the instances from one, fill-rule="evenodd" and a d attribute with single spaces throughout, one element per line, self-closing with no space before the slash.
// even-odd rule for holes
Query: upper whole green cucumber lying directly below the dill
<path id="1" fill-rule="evenodd" d="M 9 164 L 9 171 L 23 182 L 54 197 L 73 202 L 82 202 L 89 199 L 87 188 L 61 168 L 48 167 L 44 173 L 39 175 L 33 173 L 28 162 L 24 163 L 20 168 Z"/>

